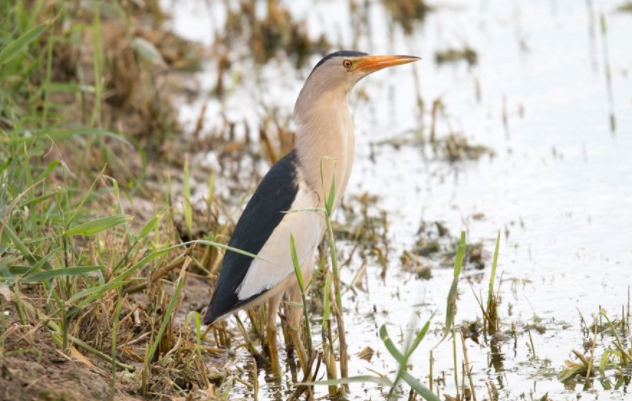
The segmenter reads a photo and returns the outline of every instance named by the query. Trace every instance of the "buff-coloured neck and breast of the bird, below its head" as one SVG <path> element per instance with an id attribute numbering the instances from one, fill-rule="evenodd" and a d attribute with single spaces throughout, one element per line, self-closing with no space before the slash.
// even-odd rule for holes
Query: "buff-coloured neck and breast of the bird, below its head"
<path id="1" fill-rule="evenodd" d="M 320 206 L 324 205 L 335 179 L 334 207 L 337 207 L 353 164 L 353 119 L 347 105 L 347 93 L 332 91 L 306 98 L 304 92 L 294 110 L 295 148 L 302 178 L 320 195 Z"/>

